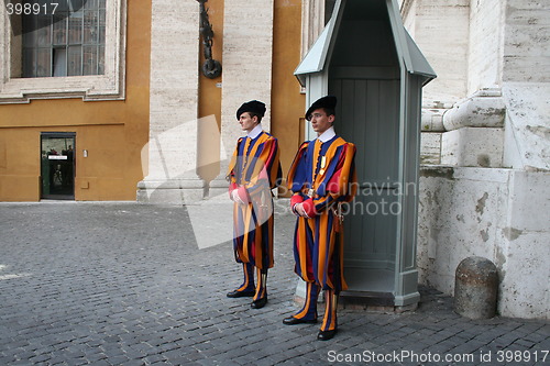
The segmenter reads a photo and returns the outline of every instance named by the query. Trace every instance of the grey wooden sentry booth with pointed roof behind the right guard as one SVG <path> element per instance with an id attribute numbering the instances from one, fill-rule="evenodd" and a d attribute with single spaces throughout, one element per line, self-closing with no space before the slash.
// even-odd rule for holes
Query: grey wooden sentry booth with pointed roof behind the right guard
<path id="1" fill-rule="evenodd" d="M 337 0 L 295 75 L 307 106 L 338 98 L 337 134 L 358 147 L 341 302 L 415 307 L 421 88 L 436 74 L 403 26 L 397 1 Z"/>

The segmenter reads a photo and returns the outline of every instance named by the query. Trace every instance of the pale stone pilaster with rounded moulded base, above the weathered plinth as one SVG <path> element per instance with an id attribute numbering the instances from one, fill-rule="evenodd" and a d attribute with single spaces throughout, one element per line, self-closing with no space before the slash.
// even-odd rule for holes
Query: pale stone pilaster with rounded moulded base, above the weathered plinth
<path id="1" fill-rule="evenodd" d="M 468 98 L 443 114 L 441 164 L 503 167 L 503 36 L 506 1 L 472 1 L 469 18 Z"/>

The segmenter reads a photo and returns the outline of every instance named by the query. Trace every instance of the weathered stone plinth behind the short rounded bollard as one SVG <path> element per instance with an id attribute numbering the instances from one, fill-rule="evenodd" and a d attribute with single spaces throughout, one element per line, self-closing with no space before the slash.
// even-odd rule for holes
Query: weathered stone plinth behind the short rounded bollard
<path id="1" fill-rule="evenodd" d="M 470 256 L 495 263 L 504 317 L 549 319 L 550 173 L 422 167 L 419 282 L 452 295 L 454 270 Z"/>

